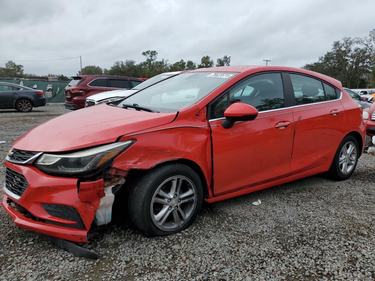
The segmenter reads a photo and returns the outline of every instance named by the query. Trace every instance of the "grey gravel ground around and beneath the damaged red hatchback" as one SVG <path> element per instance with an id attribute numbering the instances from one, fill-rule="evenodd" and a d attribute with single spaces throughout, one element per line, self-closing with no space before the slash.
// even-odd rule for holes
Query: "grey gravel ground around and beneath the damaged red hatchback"
<path id="1" fill-rule="evenodd" d="M 1 155 L 27 130 L 66 112 L 61 104 L 0 111 Z M 98 260 L 16 227 L 1 209 L 0 280 L 373 280 L 374 161 L 363 155 L 344 182 L 312 176 L 204 205 L 189 229 L 171 236 L 147 238 L 126 221 L 94 226 L 84 247 Z"/>

